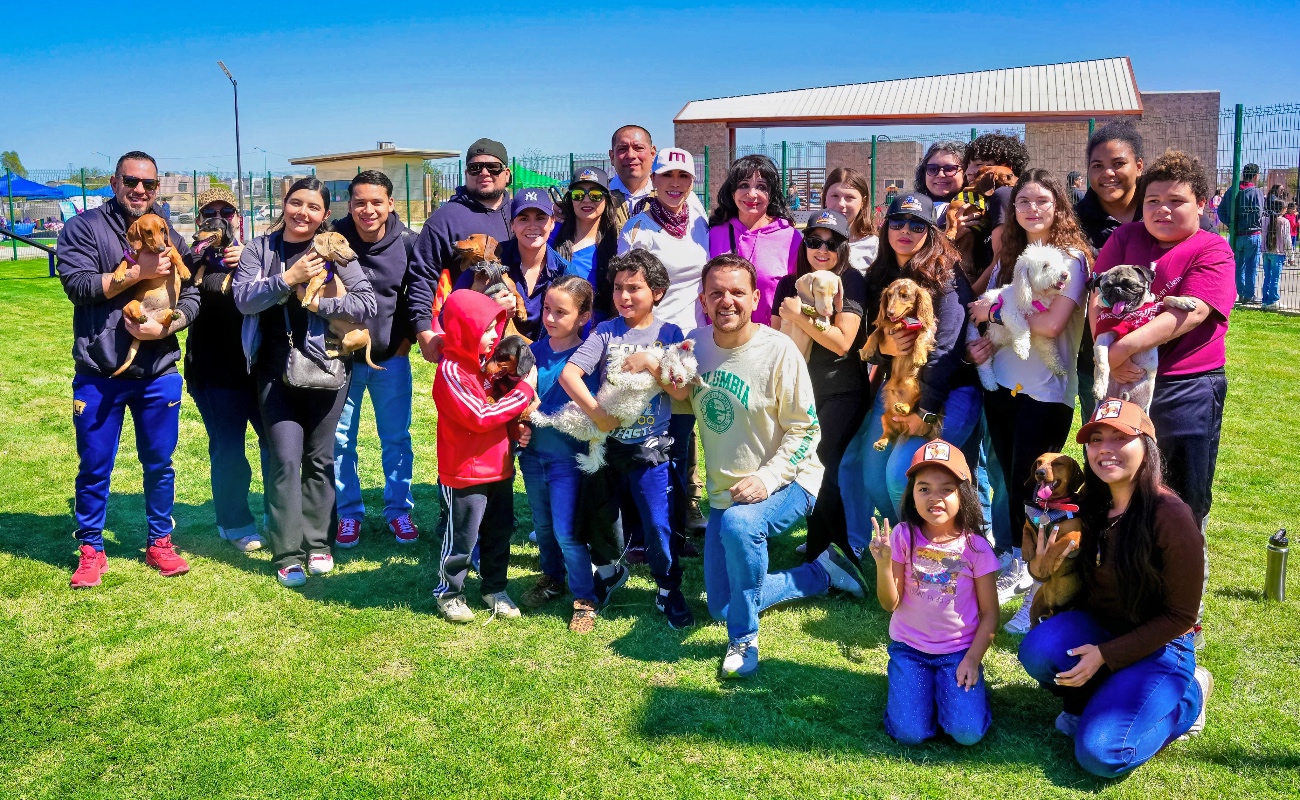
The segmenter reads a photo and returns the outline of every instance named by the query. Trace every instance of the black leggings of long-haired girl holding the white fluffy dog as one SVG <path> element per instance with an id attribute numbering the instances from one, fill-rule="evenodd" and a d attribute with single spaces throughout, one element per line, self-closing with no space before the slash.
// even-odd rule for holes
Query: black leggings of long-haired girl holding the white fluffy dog
<path id="1" fill-rule="evenodd" d="M 998 386 L 984 392 L 984 419 L 993 453 L 1002 468 L 1002 481 L 1010 494 L 1011 546 L 1024 537 L 1024 505 L 1034 500 L 1034 462 L 1044 453 L 1060 453 L 1070 433 L 1074 408 L 1065 403 L 1044 403 L 1028 394 L 1011 397 Z M 1080 464 L 1082 466 L 1082 464 Z"/>

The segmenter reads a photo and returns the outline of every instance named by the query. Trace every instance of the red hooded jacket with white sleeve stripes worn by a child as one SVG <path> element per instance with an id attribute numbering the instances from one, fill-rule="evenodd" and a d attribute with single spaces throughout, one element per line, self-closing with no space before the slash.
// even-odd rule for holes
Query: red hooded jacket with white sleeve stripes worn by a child
<path id="1" fill-rule="evenodd" d="M 484 388 L 478 342 L 493 321 L 504 321 L 506 310 L 486 294 L 460 289 L 442 307 L 442 360 L 433 381 L 438 407 L 438 483 L 452 489 L 507 480 L 515 476 L 506 424 L 533 402 L 525 381 L 499 401 Z"/>

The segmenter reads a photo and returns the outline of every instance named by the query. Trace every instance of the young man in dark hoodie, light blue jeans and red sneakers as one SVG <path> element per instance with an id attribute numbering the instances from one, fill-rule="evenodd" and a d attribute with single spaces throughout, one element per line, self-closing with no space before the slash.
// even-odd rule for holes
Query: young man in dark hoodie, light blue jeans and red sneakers
<path id="1" fill-rule="evenodd" d="M 411 312 L 407 290 L 415 233 L 393 213 L 393 181 L 377 170 L 360 172 L 348 186 L 348 216 L 334 224 L 356 252 L 356 260 L 374 290 L 377 313 L 368 323 L 372 369 L 352 359 L 343 412 L 334 438 L 334 488 L 338 532 L 334 544 L 355 548 L 361 536 L 365 505 L 356 467 L 356 431 L 367 390 L 374 406 L 384 464 L 384 516 L 398 544 L 415 544 L 420 531 L 411 522 Z"/>

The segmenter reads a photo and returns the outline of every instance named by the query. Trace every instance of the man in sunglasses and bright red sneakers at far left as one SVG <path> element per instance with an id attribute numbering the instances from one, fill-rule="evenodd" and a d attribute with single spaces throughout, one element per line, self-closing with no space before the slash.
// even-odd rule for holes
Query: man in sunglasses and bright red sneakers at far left
<path id="1" fill-rule="evenodd" d="M 177 300 L 181 319 L 165 329 L 152 320 L 136 324 L 122 319 L 122 307 L 133 299 L 135 284 L 168 274 L 188 248 L 169 225 L 176 251 L 160 256 L 156 267 L 127 259 L 126 280 L 114 284 L 112 272 L 122 263 L 127 247 L 126 229 L 146 213 L 161 211 L 153 204 L 157 163 L 148 153 L 131 151 L 117 160 L 110 183 L 112 200 L 73 217 L 58 234 L 58 277 L 74 306 L 73 427 L 81 458 L 74 503 L 81 561 L 73 574 L 73 588 L 99 585 L 100 575 L 108 570 L 104 555 L 108 487 L 127 408 L 144 468 L 150 529 L 144 562 L 165 578 L 190 568 L 172 546 L 176 526 L 172 453 L 181 421 L 181 373 L 176 367 L 181 347 L 176 333 L 199 315 L 199 291 L 194 286 L 181 290 Z M 126 359 L 133 338 L 140 340 L 134 363 L 121 376 L 109 377 Z"/>

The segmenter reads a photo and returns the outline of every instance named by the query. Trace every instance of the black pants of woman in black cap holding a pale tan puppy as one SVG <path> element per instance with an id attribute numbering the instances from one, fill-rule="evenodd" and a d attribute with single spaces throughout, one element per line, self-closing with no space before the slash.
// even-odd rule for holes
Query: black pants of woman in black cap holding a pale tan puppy
<path id="1" fill-rule="evenodd" d="M 809 562 L 815 561 L 832 542 L 840 545 L 840 549 L 849 558 L 857 561 L 849 546 L 849 526 L 844 518 L 844 497 L 840 494 L 840 462 L 844 460 L 849 442 L 862 427 L 862 420 L 870 406 L 864 390 L 816 398 L 818 425 L 822 428 L 822 441 L 816 446 L 816 457 L 826 468 L 826 473 L 816 494 L 816 505 L 807 519 L 809 539 L 805 558 Z"/>

